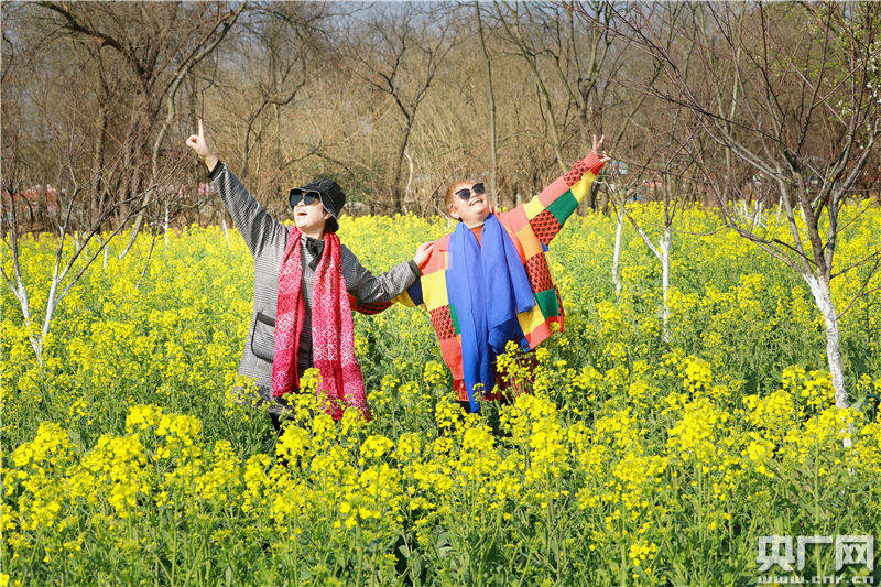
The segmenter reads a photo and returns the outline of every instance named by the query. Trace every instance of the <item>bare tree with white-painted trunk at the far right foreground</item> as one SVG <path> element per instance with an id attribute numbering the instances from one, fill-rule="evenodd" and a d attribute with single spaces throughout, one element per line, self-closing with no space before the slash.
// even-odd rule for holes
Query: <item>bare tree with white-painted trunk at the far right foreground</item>
<path id="1" fill-rule="evenodd" d="M 795 271 L 823 315 L 836 404 L 849 405 L 831 281 L 868 268 L 857 296 L 879 267 L 878 250 L 836 264 L 836 244 L 852 219 L 842 213 L 866 163 L 879 149 L 879 89 L 873 85 L 881 44 L 881 4 L 696 4 L 688 21 L 662 9 L 635 7 L 619 33 L 649 52 L 670 84 L 643 91 L 695 115 L 711 149 L 693 151 L 727 226 Z M 785 29 L 771 26 L 785 19 Z M 664 31 L 678 42 L 663 43 Z M 684 61 L 697 56 L 692 75 Z M 743 214 L 743 183 L 761 174 L 785 214 L 776 230 Z"/>

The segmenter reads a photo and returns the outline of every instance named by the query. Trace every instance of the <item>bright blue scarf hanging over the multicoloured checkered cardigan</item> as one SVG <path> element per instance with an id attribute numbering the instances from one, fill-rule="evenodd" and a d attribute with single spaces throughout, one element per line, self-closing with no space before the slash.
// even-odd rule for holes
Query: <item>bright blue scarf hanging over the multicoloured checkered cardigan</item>
<path id="1" fill-rule="evenodd" d="M 461 365 L 471 412 L 480 411 L 480 395 L 496 387 L 496 356 L 509 340 L 529 349 L 516 315 L 535 306 L 523 261 L 499 219 L 490 214 L 481 242 L 459 222 L 449 238 L 447 297 L 461 330 Z"/>

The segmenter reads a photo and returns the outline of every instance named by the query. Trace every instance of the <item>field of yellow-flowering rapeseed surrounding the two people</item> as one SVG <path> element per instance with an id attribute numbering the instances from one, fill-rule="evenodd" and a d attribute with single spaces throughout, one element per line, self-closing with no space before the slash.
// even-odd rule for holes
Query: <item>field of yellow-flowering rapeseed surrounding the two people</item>
<path id="1" fill-rule="evenodd" d="M 661 217 L 634 214 L 650 232 Z M 877 207 L 847 214 L 841 268 L 881 247 Z M 427 315 L 394 306 L 356 318 L 373 421 L 334 423 L 303 393 L 278 442 L 232 401 L 253 279 L 237 232 L 170 232 L 149 258 L 145 237 L 122 260 L 113 241 L 42 365 L 4 284 L 2 586 L 744 585 L 760 536 L 878 540 L 881 275 L 833 282 L 839 308 L 869 292 L 841 318 L 839 410 L 796 274 L 687 208 L 665 339 L 661 267 L 629 227 L 616 294 L 614 221 L 573 217 L 552 244 L 566 325 L 532 393 L 464 414 Z M 339 233 L 381 272 L 447 230 L 359 217 Z M 22 243 L 32 308 L 56 248 Z"/>

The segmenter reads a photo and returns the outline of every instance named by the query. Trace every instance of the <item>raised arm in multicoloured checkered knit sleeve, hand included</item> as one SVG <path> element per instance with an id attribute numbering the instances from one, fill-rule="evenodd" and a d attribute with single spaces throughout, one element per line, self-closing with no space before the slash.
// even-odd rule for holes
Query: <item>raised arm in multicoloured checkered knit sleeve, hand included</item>
<path id="1" fill-rule="evenodd" d="M 529 222 L 535 237 L 547 247 L 590 192 L 599 170 L 610 161 L 611 157 L 602 150 L 602 137 L 597 139 L 595 135 L 590 154 L 575 162 L 569 173 L 557 177 L 527 203 L 503 213 L 502 217 L 508 217 L 510 226 L 520 227 Z"/>

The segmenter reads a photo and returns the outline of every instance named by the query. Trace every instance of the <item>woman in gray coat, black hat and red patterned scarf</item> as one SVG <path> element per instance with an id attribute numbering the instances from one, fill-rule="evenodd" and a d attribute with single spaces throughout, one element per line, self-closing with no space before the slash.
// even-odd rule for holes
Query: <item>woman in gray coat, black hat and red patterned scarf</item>
<path id="1" fill-rule="evenodd" d="M 238 373 L 255 380 L 257 396 L 241 399 L 264 407 L 278 431 L 279 399 L 297 391 L 303 371 L 314 366 L 329 398 L 328 413 L 338 418 L 346 407 L 357 407 L 369 418 L 354 355 L 351 308 L 371 313 L 388 307 L 420 276 L 431 243 L 420 246 L 412 260 L 373 275 L 336 236 L 346 198 L 336 182 L 322 178 L 292 189 L 295 226 L 286 227 L 214 155 L 202 120 L 186 144 L 207 166 L 254 258 L 254 306 Z"/>

